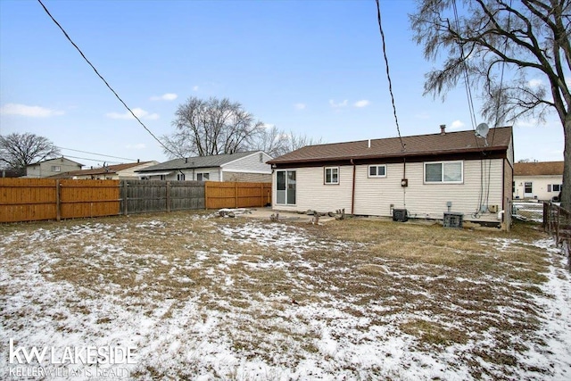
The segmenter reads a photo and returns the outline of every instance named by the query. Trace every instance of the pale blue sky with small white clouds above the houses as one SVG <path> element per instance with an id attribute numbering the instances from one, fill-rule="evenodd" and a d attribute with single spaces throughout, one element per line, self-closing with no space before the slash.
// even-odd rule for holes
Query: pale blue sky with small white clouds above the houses
<path id="1" fill-rule="evenodd" d="M 327 143 L 397 136 L 374 0 L 44 4 L 157 137 L 174 132 L 191 96 L 228 97 L 269 126 Z M 381 0 L 401 135 L 472 129 L 463 85 L 444 101 L 423 96 L 435 63 L 412 41 L 414 7 Z M 168 160 L 32 0 L 0 0 L 0 134 L 12 132 L 48 137 L 87 166 Z M 555 114 L 517 120 L 514 140 L 516 160 L 563 160 Z"/>

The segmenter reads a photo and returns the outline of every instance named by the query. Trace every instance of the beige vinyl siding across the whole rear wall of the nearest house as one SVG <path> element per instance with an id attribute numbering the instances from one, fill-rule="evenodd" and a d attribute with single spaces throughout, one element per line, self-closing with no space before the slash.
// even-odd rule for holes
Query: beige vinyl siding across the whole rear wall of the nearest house
<path id="1" fill-rule="evenodd" d="M 378 164 L 384 164 L 379 162 Z M 486 212 L 476 218 L 483 190 L 487 205 L 502 205 L 503 160 L 463 161 L 462 184 L 425 184 L 424 163 L 406 164 L 406 178 L 409 186 L 401 186 L 403 164 L 386 164 L 385 178 L 368 178 L 368 165 L 358 165 L 355 170 L 354 214 L 373 216 L 392 216 L 392 209 L 405 208 L 413 218 L 443 219 L 447 211 L 447 202 L 451 202 L 451 211 L 464 213 L 465 219 L 497 221 L 496 213 Z M 324 185 L 323 167 L 298 168 L 296 171 L 296 204 L 276 204 L 283 211 L 335 211 L 345 208 L 351 212 L 352 206 L 352 166 L 340 168 L 339 185 Z M 275 172 L 274 172 L 275 173 Z M 489 193 L 488 193 L 488 186 Z M 276 176 L 273 176 L 276 187 Z"/>

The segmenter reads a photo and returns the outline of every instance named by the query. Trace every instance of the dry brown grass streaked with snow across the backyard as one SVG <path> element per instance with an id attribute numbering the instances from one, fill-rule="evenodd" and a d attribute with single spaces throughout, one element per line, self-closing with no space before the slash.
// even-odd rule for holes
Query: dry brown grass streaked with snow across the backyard
<path id="1" fill-rule="evenodd" d="M 69 233 L 81 226 L 94 232 Z M 499 367 L 517 366 L 506 354 L 514 348 L 509 338 L 533 335 L 537 328 L 528 295 L 541 292 L 537 285 L 546 279 L 547 262 L 543 251 L 530 244 L 544 237 L 533 226 L 519 225 L 508 234 L 348 219 L 303 226 L 310 243 L 323 244 L 306 247 L 302 253 L 296 253 L 296 244 L 240 242 L 244 236 L 221 235 L 220 226 L 239 230 L 244 220 L 175 212 L 4 225 L 0 235 L 20 237 L 2 254 L 4 261 L 19 261 L 37 250 L 26 237 L 39 229 L 54 236 L 67 231 L 63 239 L 42 241 L 41 250 L 53 261 L 39 271 L 50 281 L 79 286 L 86 297 L 103 287 L 149 314 L 164 300 L 191 298 L 203 308 L 241 313 L 228 335 L 236 351 L 246 357 L 266 356 L 269 333 L 290 335 L 307 351 L 317 351 L 311 343 L 317 332 L 291 332 L 281 324 L 284 311 L 292 305 L 335 306 L 354 318 L 368 316 L 368 326 L 359 327 L 363 331 L 401 316 L 398 329 L 425 349 L 466 344 L 501 332 L 495 347 L 472 353 Z M 502 248 L 504 239 L 519 241 Z M 336 250 L 340 243 L 349 246 Z M 21 269 L 9 271 L 15 274 Z M 86 307 L 79 302 L 70 305 L 73 311 L 89 313 L 82 312 Z M 509 319 L 502 312 L 507 310 L 515 311 Z M 96 324 L 110 322 L 103 318 Z M 473 376 L 483 373 L 477 364 L 474 367 Z M 155 372 L 147 369 L 146 376 Z"/>

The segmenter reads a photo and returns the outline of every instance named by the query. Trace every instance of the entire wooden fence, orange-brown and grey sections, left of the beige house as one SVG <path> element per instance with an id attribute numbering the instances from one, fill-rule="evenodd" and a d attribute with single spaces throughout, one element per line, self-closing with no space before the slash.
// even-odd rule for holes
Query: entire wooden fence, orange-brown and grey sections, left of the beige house
<path id="1" fill-rule="evenodd" d="M 0 222 L 260 207 L 271 183 L 0 178 Z"/>

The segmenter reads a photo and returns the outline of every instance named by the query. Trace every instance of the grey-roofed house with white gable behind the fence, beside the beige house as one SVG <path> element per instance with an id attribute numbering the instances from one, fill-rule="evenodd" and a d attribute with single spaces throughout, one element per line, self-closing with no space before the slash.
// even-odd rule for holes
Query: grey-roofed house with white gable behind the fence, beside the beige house
<path id="1" fill-rule="evenodd" d="M 263 151 L 174 159 L 138 170 L 152 180 L 271 182 L 271 156 Z"/>

